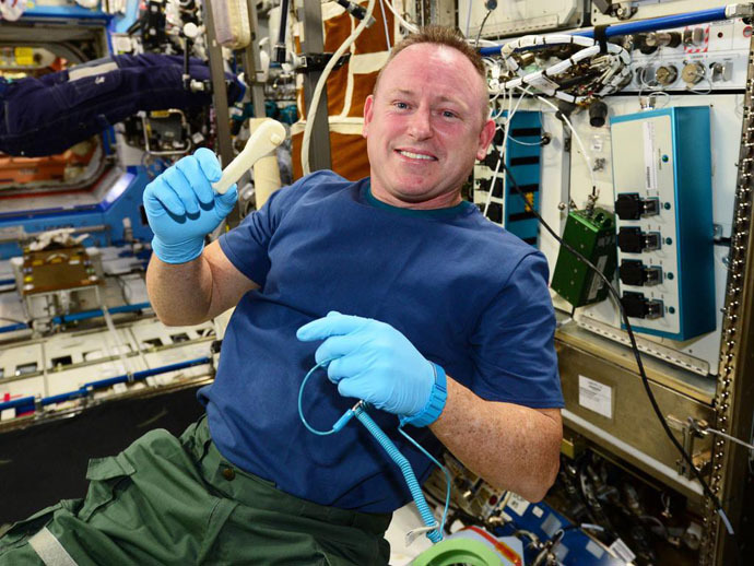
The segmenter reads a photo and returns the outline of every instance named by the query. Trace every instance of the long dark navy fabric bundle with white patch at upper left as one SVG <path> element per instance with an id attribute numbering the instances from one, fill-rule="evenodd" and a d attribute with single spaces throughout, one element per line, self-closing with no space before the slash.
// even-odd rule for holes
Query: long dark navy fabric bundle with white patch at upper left
<path id="1" fill-rule="evenodd" d="M 0 84 L 0 151 L 28 157 L 61 153 L 139 110 L 196 108 L 209 93 L 184 89 L 184 59 L 160 54 L 115 55 L 71 68 Z M 210 68 L 191 58 L 189 74 L 210 80 Z M 244 85 L 226 73 L 228 102 Z"/>

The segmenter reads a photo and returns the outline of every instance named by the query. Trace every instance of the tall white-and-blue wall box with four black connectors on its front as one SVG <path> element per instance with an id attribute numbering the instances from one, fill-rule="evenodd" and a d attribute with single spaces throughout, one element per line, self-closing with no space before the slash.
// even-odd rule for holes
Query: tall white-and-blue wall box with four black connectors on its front
<path id="1" fill-rule="evenodd" d="M 611 120 L 621 302 L 632 327 L 688 340 L 715 330 L 709 107 Z"/>

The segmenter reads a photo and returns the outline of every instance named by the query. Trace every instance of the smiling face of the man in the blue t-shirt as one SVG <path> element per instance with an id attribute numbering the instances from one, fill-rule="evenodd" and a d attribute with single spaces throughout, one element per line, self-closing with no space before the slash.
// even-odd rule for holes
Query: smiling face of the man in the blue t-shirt
<path id="1" fill-rule="evenodd" d="M 414 209 L 460 202 L 495 133 L 486 107 L 483 79 L 457 49 L 425 43 L 400 51 L 364 105 L 373 194 Z"/>

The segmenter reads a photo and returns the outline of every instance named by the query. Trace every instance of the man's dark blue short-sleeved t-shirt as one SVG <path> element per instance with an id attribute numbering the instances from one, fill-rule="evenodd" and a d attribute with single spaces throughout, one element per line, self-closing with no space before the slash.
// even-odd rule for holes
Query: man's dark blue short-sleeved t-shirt
<path id="1" fill-rule="evenodd" d="M 365 512 L 411 499 L 358 422 L 317 436 L 299 420 L 298 389 L 320 342 L 299 342 L 296 330 L 330 310 L 392 325 L 483 399 L 563 406 L 546 261 L 469 202 L 398 209 L 372 197 L 368 178 L 317 172 L 272 194 L 220 245 L 260 288 L 238 303 L 200 399 L 221 453 L 288 494 Z M 311 426 L 330 429 L 354 402 L 322 370 L 303 406 Z M 398 418 L 369 414 L 426 479 L 432 464 L 398 434 Z M 440 451 L 428 428 L 407 431 Z"/>

